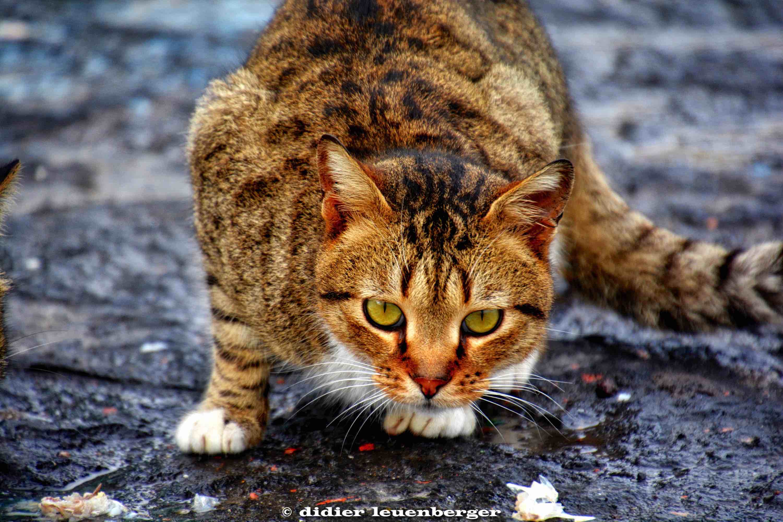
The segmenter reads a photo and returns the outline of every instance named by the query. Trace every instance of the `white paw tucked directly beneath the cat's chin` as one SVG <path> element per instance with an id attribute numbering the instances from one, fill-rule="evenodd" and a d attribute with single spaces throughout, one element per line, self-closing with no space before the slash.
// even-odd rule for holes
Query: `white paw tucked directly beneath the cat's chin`
<path id="1" fill-rule="evenodd" d="M 476 416 L 469 406 L 449 409 L 409 409 L 403 407 L 386 412 L 384 430 L 390 435 L 410 431 L 420 437 L 459 437 L 470 435 L 476 427 Z"/>

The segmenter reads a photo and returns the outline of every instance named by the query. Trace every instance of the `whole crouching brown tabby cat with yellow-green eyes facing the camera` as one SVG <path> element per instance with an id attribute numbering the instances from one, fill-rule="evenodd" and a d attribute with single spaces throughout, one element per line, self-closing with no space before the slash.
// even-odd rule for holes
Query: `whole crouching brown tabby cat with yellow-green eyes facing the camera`
<path id="1" fill-rule="evenodd" d="M 781 243 L 655 227 L 585 142 L 522 2 L 282 5 L 191 122 L 214 361 L 179 447 L 257 445 L 276 362 L 389 434 L 471 434 L 544 349 L 553 265 L 650 326 L 783 319 Z"/>

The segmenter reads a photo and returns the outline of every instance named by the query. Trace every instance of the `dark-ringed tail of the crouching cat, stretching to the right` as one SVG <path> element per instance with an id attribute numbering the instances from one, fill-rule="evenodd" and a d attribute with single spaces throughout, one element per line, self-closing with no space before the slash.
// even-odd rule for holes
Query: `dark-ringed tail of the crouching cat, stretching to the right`
<path id="1" fill-rule="evenodd" d="M 783 243 L 726 250 L 677 236 L 628 207 L 589 145 L 566 157 L 576 181 L 558 227 L 561 271 L 586 297 L 660 328 L 783 323 Z"/>

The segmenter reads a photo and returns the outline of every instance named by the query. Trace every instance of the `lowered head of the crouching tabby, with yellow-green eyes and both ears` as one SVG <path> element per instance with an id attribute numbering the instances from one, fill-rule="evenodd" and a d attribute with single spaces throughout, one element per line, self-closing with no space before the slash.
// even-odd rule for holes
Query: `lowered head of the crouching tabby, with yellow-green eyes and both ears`
<path id="1" fill-rule="evenodd" d="M 567 160 L 510 182 L 439 153 L 363 164 L 326 135 L 318 164 L 316 285 L 334 355 L 372 365 L 388 398 L 436 408 L 466 406 L 490 376 L 532 367 L 573 182 Z"/>

